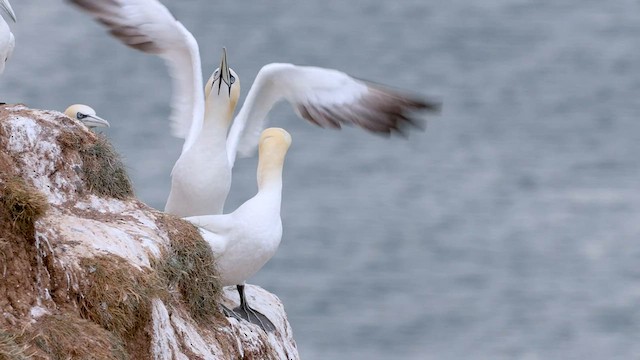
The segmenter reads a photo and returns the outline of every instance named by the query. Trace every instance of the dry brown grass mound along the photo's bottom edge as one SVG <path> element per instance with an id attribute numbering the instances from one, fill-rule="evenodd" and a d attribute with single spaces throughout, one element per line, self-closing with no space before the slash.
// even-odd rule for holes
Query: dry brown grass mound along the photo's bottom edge
<path id="1" fill-rule="evenodd" d="M 74 315 L 45 315 L 33 324 L 29 343 L 37 355 L 53 360 L 129 359 L 118 337 Z"/>

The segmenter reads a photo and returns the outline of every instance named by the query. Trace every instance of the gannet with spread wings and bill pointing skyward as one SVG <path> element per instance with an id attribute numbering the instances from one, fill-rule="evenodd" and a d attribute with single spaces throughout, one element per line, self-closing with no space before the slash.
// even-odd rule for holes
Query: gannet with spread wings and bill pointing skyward
<path id="1" fill-rule="evenodd" d="M 356 80 L 340 71 L 268 64 L 258 72 L 234 119 L 239 79 L 223 54 L 220 68 L 205 89 L 205 111 L 198 44 L 160 2 L 69 1 L 95 16 L 124 44 L 165 59 L 173 78 L 172 133 L 185 139 L 171 172 L 165 207 L 178 216 L 222 213 L 236 152 L 251 153 L 267 114 L 280 100 L 287 100 L 300 117 L 321 127 L 349 124 L 382 134 L 415 124 L 414 110 L 439 109 L 437 102 Z"/>

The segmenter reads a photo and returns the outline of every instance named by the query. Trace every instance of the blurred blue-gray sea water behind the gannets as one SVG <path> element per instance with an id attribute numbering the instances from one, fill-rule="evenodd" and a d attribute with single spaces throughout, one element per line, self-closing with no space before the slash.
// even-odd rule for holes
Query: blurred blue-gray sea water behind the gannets
<path id="1" fill-rule="evenodd" d="M 640 357 L 640 2 L 164 1 L 260 67 L 337 68 L 444 101 L 408 140 L 287 128 L 284 237 L 250 282 L 284 302 L 304 359 Z M 14 1 L 0 98 L 92 105 L 137 195 L 162 209 L 181 143 L 161 60 L 63 1 Z M 234 171 L 227 210 L 255 193 Z"/>

